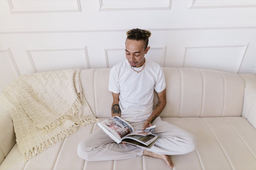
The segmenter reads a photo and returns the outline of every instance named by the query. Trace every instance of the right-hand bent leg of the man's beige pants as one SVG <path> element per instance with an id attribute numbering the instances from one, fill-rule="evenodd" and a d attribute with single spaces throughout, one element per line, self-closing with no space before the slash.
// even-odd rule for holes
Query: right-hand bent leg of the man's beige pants
<path id="1" fill-rule="evenodd" d="M 153 125 L 156 124 L 155 134 L 161 138 L 151 149 L 146 149 L 157 154 L 180 155 L 192 152 L 196 148 L 196 138 L 190 132 L 187 132 L 178 126 L 157 117 Z"/>

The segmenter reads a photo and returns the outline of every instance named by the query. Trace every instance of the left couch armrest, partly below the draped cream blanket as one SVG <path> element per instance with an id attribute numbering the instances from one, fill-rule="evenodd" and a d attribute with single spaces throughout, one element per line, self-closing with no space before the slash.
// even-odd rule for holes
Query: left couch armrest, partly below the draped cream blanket
<path id="1" fill-rule="evenodd" d="M 12 117 L 0 104 L 0 164 L 16 142 Z"/>

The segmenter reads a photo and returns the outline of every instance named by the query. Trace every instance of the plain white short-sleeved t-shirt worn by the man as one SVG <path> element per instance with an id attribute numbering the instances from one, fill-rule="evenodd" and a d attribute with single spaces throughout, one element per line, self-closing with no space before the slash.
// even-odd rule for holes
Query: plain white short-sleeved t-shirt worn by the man
<path id="1" fill-rule="evenodd" d="M 139 71 L 143 68 L 133 67 Z M 147 60 L 144 70 L 137 73 L 128 60 L 112 67 L 109 75 L 109 91 L 120 93 L 121 118 L 138 122 L 146 120 L 153 112 L 154 89 L 161 92 L 166 88 L 165 74 L 155 62 Z"/>

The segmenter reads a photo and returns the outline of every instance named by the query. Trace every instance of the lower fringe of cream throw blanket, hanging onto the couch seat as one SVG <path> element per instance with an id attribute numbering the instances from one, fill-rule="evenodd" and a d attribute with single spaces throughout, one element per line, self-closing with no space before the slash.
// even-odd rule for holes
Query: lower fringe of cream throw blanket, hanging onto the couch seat
<path id="1" fill-rule="evenodd" d="M 83 118 L 79 123 L 74 123 L 72 126 L 69 127 L 69 129 L 66 129 L 64 131 L 61 131 L 51 139 L 47 139 L 43 143 L 40 143 L 39 145 L 33 147 L 32 149 L 29 149 L 27 152 L 24 153 L 23 161 L 26 163 L 29 159 L 34 157 L 35 155 L 45 151 L 49 147 L 55 145 L 58 143 L 61 139 L 68 137 L 72 133 L 76 132 L 78 128 L 82 126 L 86 126 L 91 123 L 99 122 L 99 119 L 96 118 Z"/>

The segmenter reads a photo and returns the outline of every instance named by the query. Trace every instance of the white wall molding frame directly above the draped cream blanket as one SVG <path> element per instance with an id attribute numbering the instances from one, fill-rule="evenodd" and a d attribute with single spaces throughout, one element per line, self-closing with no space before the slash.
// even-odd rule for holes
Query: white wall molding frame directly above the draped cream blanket
<path id="1" fill-rule="evenodd" d="M 84 54 L 86 57 L 87 61 L 87 69 L 90 69 L 90 63 L 89 63 L 89 57 L 88 57 L 88 51 L 87 51 L 87 46 L 85 47 L 40 47 L 40 48 L 26 48 L 27 54 L 29 56 L 31 66 L 33 67 L 34 73 L 38 72 L 37 67 L 35 66 L 33 56 L 31 55 L 31 52 L 36 51 L 76 51 L 76 50 L 84 50 Z"/>

